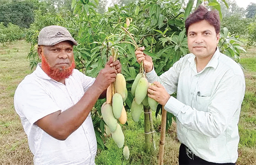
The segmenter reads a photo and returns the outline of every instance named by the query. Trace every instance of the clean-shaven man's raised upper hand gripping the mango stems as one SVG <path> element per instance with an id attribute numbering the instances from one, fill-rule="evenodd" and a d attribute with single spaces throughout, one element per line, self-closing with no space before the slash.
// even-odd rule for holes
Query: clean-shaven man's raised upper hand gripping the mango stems
<path id="1" fill-rule="evenodd" d="M 140 64 L 143 61 L 146 72 L 150 72 L 153 69 L 153 61 L 150 56 L 143 53 L 143 50 L 145 50 L 144 46 L 140 47 L 140 50 L 135 51 L 137 62 Z"/>

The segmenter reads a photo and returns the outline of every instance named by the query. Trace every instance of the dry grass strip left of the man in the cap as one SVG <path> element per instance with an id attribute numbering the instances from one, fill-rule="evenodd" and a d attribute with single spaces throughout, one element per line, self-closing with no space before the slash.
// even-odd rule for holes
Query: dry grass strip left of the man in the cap
<path id="1" fill-rule="evenodd" d="M 26 55 L 30 45 L 18 41 L 0 45 L 0 164 L 33 164 L 27 136 L 13 105 L 17 85 L 32 71 Z"/>

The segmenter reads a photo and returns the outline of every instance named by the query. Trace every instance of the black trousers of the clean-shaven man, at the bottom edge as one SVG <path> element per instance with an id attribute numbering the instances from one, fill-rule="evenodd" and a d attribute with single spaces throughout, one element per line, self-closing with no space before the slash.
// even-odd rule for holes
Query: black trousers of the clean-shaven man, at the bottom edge
<path id="1" fill-rule="evenodd" d="M 195 155 L 191 159 L 186 154 L 186 145 L 181 143 L 179 152 L 179 165 L 236 165 L 236 163 L 212 163 L 207 162 Z"/>

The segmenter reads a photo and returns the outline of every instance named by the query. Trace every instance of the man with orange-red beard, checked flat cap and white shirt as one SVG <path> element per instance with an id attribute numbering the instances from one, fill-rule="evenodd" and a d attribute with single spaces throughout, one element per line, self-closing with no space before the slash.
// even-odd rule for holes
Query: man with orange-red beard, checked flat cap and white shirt
<path id="1" fill-rule="evenodd" d="M 75 68 L 67 29 L 47 26 L 38 36 L 41 63 L 15 91 L 15 110 L 28 136 L 35 165 L 94 165 L 96 136 L 90 116 L 98 98 L 121 72 L 112 58 L 97 78 Z"/>

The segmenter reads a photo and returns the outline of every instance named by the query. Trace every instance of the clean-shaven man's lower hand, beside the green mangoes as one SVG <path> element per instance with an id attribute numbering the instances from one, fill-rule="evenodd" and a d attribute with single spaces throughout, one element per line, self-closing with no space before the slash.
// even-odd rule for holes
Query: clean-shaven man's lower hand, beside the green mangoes
<path id="1" fill-rule="evenodd" d="M 148 97 L 153 98 L 159 104 L 165 106 L 171 96 L 160 82 L 155 81 L 153 84 L 148 87 Z"/>

